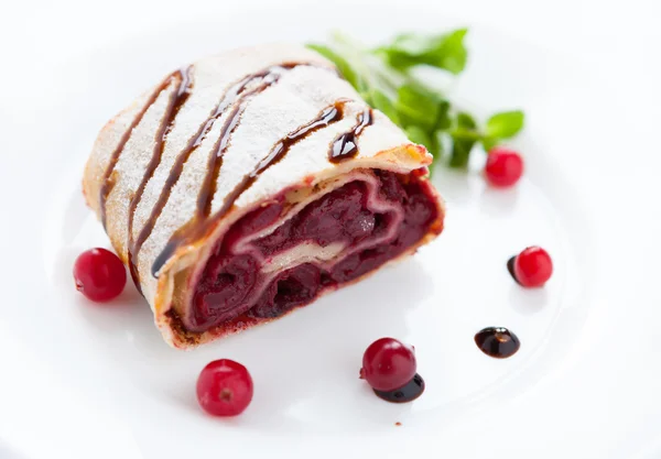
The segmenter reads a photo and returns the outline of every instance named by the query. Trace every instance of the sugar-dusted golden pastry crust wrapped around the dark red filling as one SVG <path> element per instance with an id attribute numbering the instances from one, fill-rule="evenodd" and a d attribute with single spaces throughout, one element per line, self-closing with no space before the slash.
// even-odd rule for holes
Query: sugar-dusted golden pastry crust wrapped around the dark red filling
<path id="1" fill-rule="evenodd" d="M 154 313 L 155 323 L 165 340 L 177 348 L 191 348 L 247 326 L 235 324 L 224 330 L 191 334 L 177 319 L 188 307 L 189 291 L 215 242 L 239 218 L 288 190 L 302 190 L 292 195 L 296 196 L 292 198 L 292 206 L 302 206 L 339 186 L 342 177 L 360 174 L 360 171 L 376 168 L 409 174 L 424 170 L 432 161 L 423 146 L 409 142 L 384 114 L 373 110 L 371 124 L 357 138 L 357 154 L 337 164 L 330 162 L 328 146 L 334 139 L 349 131 L 357 117 L 370 109 L 328 61 L 302 46 L 273 44 L 236 50 L 199 61 L 185 72 L 173 74 L 147 91 L 104 127 L 83 179 L 89 207 L 105 220 L 115 250 L 124 263 L 129 263 L 131 241 L 140 239 L 142 229 L 154 216 L 154 207 L 163 197 L 164 188 L 170 186 L 169 177 L 182 160 L 186 145 L 201 127 L 207 124 L 208 132 L 198 139 L 194 149 L 189 149 L 181 174 L 167 189 L 166 200 L 152 221 L 153 229 L 139 252 L 132 255 L 139 287 Z M 263 85 L 263 75 L 268 72 L 277 80 Z M 236 90 L 237 84 L 245 81 L 248 75 L 261 75 L 261 79 L 250 80 L 242 89 L 245 94 L 254 94 L 227 99 L 227 94 Z M 191 79 L 185 101 L 165 125 L 163 121 L 172 117 L 173 100 L 178 100 L 185 78 Z M 227 107 L 212 120 L 209 114 L 219 100 L 227 100 Z M 293 144 L 284 157 L 257 176 L 231 207 L 223 211 L 228 195 L 264 160 L 273 145 L 337 101 L 343 103 L 342 119 Z M 235 123 L 230 119 L 232 112 Z M 232 127 L 229 134 L 224 131 L 228 125 Z M 162 145 L 159 145 L 159 139 L 162 139 Z M 195 220 L 201 187 L 208 176 L 209 157 L 218 153 L 219 139 L 225 139 L 226 143 L 221 170 L 214 183 L 213 196 L 209 196 L 205 234 L 180 244 L 158 272 L 152 273 L 154 262 L 173 234 Z M 154 162 L 158 151 L 161 155 Z M 145 175 L 150 163 L 155 167 L 151 175 Z M 437 195 L 435 198 L 438 220 L 407 253 L 441 232 L 443 205 Z M 213 216 L 219 212 L 223 214 L 220 218 L 214 219 Z"/>

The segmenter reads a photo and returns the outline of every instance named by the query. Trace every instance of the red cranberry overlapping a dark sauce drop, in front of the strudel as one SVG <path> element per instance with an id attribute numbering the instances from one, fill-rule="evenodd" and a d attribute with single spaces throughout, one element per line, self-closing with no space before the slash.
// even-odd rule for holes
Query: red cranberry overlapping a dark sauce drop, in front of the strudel
<path id="1" fill-rule="evenodd" d="M 392 338 L 381 338 L 369 345 L 362 356 L 360 378 L 377 391 L 394 391 L 415 375 L 415 352 Z"/>

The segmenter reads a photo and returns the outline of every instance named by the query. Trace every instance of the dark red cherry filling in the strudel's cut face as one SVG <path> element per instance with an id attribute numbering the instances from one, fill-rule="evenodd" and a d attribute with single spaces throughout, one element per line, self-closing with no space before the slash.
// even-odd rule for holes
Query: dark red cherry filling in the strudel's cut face
<path id="1" fill-rule="evenodd" d="M 237 221 L 205 266 L 186 328 L 205 331 L 241 315 L 278 317 L 420 241 L 438 218 L 429 182 L 416 173 L 373 174 L 373 184 L 347 183 L 268 234 L 258 233 L 281 217 L 283 198 Z"/>

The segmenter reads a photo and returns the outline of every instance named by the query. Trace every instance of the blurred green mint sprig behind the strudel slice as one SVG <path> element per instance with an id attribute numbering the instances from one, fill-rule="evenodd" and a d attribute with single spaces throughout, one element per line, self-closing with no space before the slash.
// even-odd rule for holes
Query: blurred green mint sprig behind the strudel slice
<path id="1" fill-rule="evenodd" d="M 335 33 L 327 44 L 308 47 L 335 63 L 360 96 L 400 125 L 412 142 L 425 145 L 451 167 L 466 167 L 476 145 L 488 152 L 517 135 L 524 124 L 523 112 L 510 110 L 495 113 L 480 125 L 445 94 L 414 76 L 420 66 L 459 75 L 468 58 L 467 32 L 402 34 L 371 50 Z"/>

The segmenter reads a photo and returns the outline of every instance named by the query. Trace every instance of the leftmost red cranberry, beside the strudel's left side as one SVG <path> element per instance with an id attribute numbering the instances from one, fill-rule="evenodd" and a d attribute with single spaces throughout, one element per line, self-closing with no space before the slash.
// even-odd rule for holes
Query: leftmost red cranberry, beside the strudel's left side
<path id="1" fill-rule="evenodd" d="M 74 264 L 76 288 L 93 302 L 119 296 L 127 284 L 127 270 L 119 258 L 106 249 L 87 250 Z"/>

